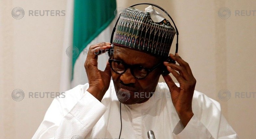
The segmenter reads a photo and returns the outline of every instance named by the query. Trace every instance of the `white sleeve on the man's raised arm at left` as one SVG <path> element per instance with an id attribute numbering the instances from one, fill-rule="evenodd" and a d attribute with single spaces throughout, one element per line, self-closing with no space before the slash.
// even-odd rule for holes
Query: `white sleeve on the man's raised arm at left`
<path id="1" fill-rule="evenodd" d="M 84 138 L 107 110 L 88 91 L 70 110 L 65 107 L 68 103 L 55 98 L 32 139 Z"/>

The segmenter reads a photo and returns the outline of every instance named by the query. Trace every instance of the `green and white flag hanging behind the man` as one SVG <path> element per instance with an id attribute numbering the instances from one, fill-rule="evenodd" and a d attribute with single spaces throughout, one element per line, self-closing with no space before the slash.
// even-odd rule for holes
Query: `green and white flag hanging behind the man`
<path id="1" fill-rule="evenodd" d="M 67 0 L 60 91 L 88 82 L 84 68 L 88 46 L 110 42 L 115 12 L 115 0 Z M 100 70 L 107 59 L 107 53 L 99 56 Z"/>

